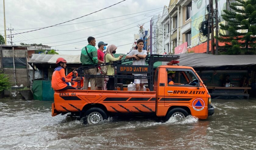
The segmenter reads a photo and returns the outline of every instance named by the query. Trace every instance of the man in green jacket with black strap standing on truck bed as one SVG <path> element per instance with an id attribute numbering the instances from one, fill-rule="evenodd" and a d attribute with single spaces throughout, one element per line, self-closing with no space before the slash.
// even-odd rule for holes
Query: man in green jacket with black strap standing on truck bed
<path id="1" fill-rule="evenodd" d="M 87 38 L 88 45 L 86 48 L 82 48 L 80 61 L 82 62 L 83 66 L 89 66 L 98 64 L 98 54 L 97 54 L 97 48 L 96 40 L 94 37 L 88 37 Z M 84 75 L 97 75 L 98 68 L 90 68 L 90 69 L 84 69 Z M 91 90 L 96 90 L 96 81 L 97 78 L 84 78 L 84 89 L 88 89 L 89 81 L 91 82 Z"/>

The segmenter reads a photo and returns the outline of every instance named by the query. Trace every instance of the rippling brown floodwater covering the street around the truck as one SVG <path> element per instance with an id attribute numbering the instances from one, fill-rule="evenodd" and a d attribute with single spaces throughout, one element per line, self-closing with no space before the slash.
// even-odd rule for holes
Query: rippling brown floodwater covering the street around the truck
<path id="1" fill-rule="evenodd" d="M 212 99 L 207 120 L 51 117 L 48 101 L 0 99 L 0 149 L 256 149 L 256 99 Z"/>

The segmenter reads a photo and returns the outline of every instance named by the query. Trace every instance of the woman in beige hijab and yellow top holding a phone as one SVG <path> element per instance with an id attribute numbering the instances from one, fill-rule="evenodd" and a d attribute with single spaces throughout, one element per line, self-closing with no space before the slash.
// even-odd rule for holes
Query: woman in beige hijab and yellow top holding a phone
<path id="1" fill-rule="evenodd" d="M 111 62 L 111 61 L 118 61 L 123 58 L 123 56 L 119 56 L 118 58 L 115 58 L 113 54 L 116 53 L 116 45 L 111 44 L 108 46 L 107 51 L 104 55 L 104 62 Z M 108 65 L 107 75 L 114 75 L 115 71 L 114 68 L 111 67 L 111 65 Z M 114 78 L 109 78 L 107 83 L 107 90 L 114 90 L 115 89 L 115 80 Z"/>

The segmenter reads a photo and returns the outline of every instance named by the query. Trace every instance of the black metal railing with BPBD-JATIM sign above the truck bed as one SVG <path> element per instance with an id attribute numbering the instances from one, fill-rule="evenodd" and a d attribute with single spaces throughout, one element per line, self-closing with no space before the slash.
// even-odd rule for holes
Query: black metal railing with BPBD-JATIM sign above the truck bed
<path id="1" fill-rule="evenodd" d="M 122 59 L 118 61 L 112 61 L 102 64 L 95 64 L 95 65 L 88 65 L 79 67 L 78 76 L 83 76 L 87 78 L 115 78 L 115 90 L 117 89 L 117 79 L 118 78 L 147 78 L 148 79 L 148 88 L 150 91 L 153 91 L 153 76 L 154 76 L 154 63 L 158 61 L 174 61 L 179 59 L 180 56 L 177 55 L 158 55 L 152 54 L 146 57 L 146 64 L 145 66 L 141 65 L 132 65 L 133 60 L 135 58 L 130 59 Z M 82 75 L 84 69 L 96 68 L 101 66 L 111 65 L 114 68 L 115 74 L 114 75 Z M 140 73 L 140 74 L 147 74 L 147 76 L 134 76 L 134 75 L 123 75 L 127 73 Z M 78 82 L 78 89 L 80 89 L 81 84 Z"/>

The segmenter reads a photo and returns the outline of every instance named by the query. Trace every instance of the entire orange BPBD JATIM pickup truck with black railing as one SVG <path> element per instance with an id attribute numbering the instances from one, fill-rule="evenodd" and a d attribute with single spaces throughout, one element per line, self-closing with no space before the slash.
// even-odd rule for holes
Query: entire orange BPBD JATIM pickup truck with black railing
<path id="1" fill-rule="evenodd" d="M 131 65 L 132 59 L 124 59 L 99 65 L 80 67 L 79 74 L 87 68 L 112 65 L 115 75 L 84 75 L 84 77 L 108 77 L 115 79 L 114 91 L 105 90 L 66 90 L 55 91 L 52 103 L 52 116 L 71 113 L 70 116 L 84 118 L 88 124 L 98 124 L 113 113 L 153 113 L 169 120 L 177 120 L 192 115 L 206 119 L 214 114 L 211 96 L 201 78 L 191 67 L 177 65 L 179 56 L 149 55 L 148 66 Z M 168 61 L 154 69 L 154 63 Z M 136 77 L 131 73 L 146 73 Z M 174 84 L 168 83 L 168 72 L 175 74 Z M 147 91 L 128 91 L 118 88 L 123 78 L 147 78 Z"/>

